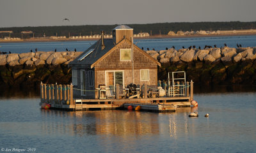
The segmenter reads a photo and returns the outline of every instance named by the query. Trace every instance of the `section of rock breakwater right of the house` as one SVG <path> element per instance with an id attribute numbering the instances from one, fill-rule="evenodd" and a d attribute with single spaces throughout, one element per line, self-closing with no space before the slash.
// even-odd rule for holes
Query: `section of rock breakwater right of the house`
<path id="1" fill-rule="evenodd" d="M 159 79 L 168 71 L 186 71 L 196 84 L 256 84 L 256 48 L 205 48 L 147 51 L 161 62 Z"/>

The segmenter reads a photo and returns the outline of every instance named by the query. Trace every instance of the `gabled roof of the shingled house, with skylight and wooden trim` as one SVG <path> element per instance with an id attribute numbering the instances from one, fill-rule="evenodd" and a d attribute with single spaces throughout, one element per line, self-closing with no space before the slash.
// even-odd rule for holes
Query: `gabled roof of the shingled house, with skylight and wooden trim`
<path id="1" fill-rule="evenodd" d="M 90 68 L 93 68 L 95 66 L 95 64 L 100 62 L 107 55 L 111 54 L 111 52 L 116 50 L 116 48 L 120 47 L 120 45 L 122 45 L 122 43 L 124 43 L 125 41 L 127 41 L 128 43 L 130 43 L 132 45 L 132 42 L 127 40 L 127 38 L 124 38 L 117 45 L 115 45 L 113 43 L 112 39 L 104 39 L 105 48 L 102 50 L 102 48 L 101 48 L 102 43 L 101 43 L 101 39 L 100 39 L 96 43 L 94 43 L 91 47 L 89 47 L 86 51 L 84 51 L 83 54 L 79 55 L 76 59 L 74 59 L 74 61 L 70 62 L 69 64 L 70 65 L 75 65 L 75 64 L 88 65 L 88 66 L 90 66 Z M 153 62 L 155 62 L 158 66 L 161 66 L 160 62 L 156 61 L 153 57 L 151 57 L 146 52 L 141 50 L 141 48 L 137 47 L 134 44 L 133 44 L 133 47 L 136 48 L 137 50 L 139 50 L 142 54 L 147 56 Z M 88 54 L 88 51 L 90 52 L 90 50 L 92 50 L 92 49 L 93 49 L 93 51 L 90 54 Z M 83 56 L 85 56 L 86 54 L 88 54 L 88 55 L 83 58 Z"/>

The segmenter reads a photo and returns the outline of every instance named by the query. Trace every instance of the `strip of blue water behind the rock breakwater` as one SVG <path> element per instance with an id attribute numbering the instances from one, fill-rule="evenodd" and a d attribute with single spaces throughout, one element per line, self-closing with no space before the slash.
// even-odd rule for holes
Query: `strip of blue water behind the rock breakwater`
<path id="1" fill-rule="evenodd" d="M 57 51 L 74 50 L 81 52 L 90 47 L 95 41 L 59 41 L 59 42 L 33 42 L 33 43 L 0 43 L 1 52 L 22 53 L 30 52 L 35 48 L 40 51 Z M 166 38 L 166 39 L 148 39 L 134 40 L 138 47 L 143 47 L 144 50 L 149 48 L 152 50 L 165 50 L 166 47 L 174 46 L 176 49 L 182 46 L 188 48 L 195 45 L 196 47 L 204 47 L 205 45 L 217 45 L 223 47 L 227 43 L 228 47 L 236 47 L 236 44 L 241 44 L 243 47 L 255 47 L 256 36 L 222 36 L 222 37 L 198 37 L 198 38 Z"/>

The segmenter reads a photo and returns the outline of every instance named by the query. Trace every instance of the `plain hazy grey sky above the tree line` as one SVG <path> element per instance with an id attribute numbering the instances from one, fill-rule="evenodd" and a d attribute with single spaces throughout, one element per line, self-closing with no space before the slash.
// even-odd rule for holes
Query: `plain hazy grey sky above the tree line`
<path id="1" fill-rule="evenodd" d="M 0 27 L 256 21 L 255 7 L 256 0 L 0 0 Z"/>

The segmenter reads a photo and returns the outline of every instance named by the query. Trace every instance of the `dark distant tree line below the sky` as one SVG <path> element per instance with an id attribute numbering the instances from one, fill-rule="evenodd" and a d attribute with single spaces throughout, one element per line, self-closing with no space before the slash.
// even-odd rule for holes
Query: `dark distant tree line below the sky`
<path id="1" fill-rule="evenodd" d="M 255 29 L 256 22 L 173 22 L 157 24 L 127 24 L 136 33 L 149 33 L 152 35 L 168 34 L 169 31 L 217 31 L 236 29 Z M 69 25 L 69 26 L 44 26 L 44 27 L 1 27 L 0 31 L 13 31 L 11 37 L 21 37 L 21 31 L 33 31 L 35 37 L 45 36 L 86 36 L 100 34 L 104 30 L 111 34 L 117 25 Z M 8 33 L 0 33 L 1 37 L 9 36 Z M 33 34 L 23 34 L 23 38 L 31 38 Z"/>

